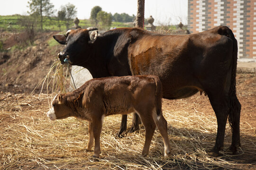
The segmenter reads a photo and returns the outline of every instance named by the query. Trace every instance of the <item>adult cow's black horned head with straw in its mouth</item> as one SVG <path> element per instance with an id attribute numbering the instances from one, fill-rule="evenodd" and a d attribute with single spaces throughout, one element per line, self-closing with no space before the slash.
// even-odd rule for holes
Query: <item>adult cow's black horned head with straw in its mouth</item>
<path id="1" fill-rule="evenodd" d="M 58 59 L 61 63 L 64 64 L 64 60 L 66 61 L 67 59 L 70 64 L 81 66 L 81 63 L 84 60 L 84 55 L 90 50 L 89 43 L 94 41 L 98 35 L 94 33 L 93 36 L 90 37 L 89 31 L 97 29 L 98 28 L 95 27 L 89 27 L 87 29 L 79 28 L 76 30 L 68 30 L 65 35 L 54 35 L 53 37 L 57 42 L 66 45 L 65 49 L 58 53 Z"/>

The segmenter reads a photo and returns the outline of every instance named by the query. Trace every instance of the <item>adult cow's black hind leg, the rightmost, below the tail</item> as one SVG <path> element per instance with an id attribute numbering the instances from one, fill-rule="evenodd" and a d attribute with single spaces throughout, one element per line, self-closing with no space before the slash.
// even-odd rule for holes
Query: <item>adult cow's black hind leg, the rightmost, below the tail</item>
<path id="1" fill-rule="evenodd" d="M 240 144 L 240 111 L 241 111 L 241 104 L 238 101 L 238 98 L 236 95 L 233 95 L 234 97 L 231 98 L 233 100 L 231 103 L 233 103 L 232 106 L 232 113 L 230 114 L 229 117 L 229 122 L 231 124 L 232 128 L 232 143 L 229 147 L 229 151 L 231 151 L 233 154 L 237 154 L 237 148 L 241 145 Z"/>

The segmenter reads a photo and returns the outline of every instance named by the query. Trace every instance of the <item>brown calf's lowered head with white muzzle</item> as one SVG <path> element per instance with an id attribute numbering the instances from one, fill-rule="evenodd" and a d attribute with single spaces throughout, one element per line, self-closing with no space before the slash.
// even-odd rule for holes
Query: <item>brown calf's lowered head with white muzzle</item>
<path id="1" fill-rule="evenodd" d="M 52 108 L 47 112 L 47 117 L 51 120 L 65 119 L 70 117 L 72 109 L 67 106 L 66 98 L 57 94 L 52 102 Z"/>

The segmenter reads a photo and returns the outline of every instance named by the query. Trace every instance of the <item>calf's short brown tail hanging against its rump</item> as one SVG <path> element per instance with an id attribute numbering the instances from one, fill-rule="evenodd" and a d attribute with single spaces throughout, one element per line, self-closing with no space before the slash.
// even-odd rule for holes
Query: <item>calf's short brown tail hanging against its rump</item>
<path id="1" fill-rule="evenodd" d="M 155 81 L 155 106 L 156 115 L 160 116 L 162 114 L 162 98 L 163 98 L 163 87 L 162 82 L 158 76 L 154 76 Z"/>

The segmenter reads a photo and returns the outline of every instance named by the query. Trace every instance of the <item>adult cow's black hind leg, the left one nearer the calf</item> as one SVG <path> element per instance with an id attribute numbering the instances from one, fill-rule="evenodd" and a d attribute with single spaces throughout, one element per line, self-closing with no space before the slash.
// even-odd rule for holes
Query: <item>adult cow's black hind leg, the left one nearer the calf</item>
<path id="1" fill-rule="evenodd" d="M 214 147 L 209 152 L 210 156 L 216 157 L 219 155 L 219 151 L 223 150 L 225 128 L 227 118 L 230 112 L 230 106 L 228 94 L 219 91 L 214 92 L 215 93 L 207 92 L 207 95 L 209 97 L 210 104 L 215 112 L 218 123 L 216 142 Z"/>

